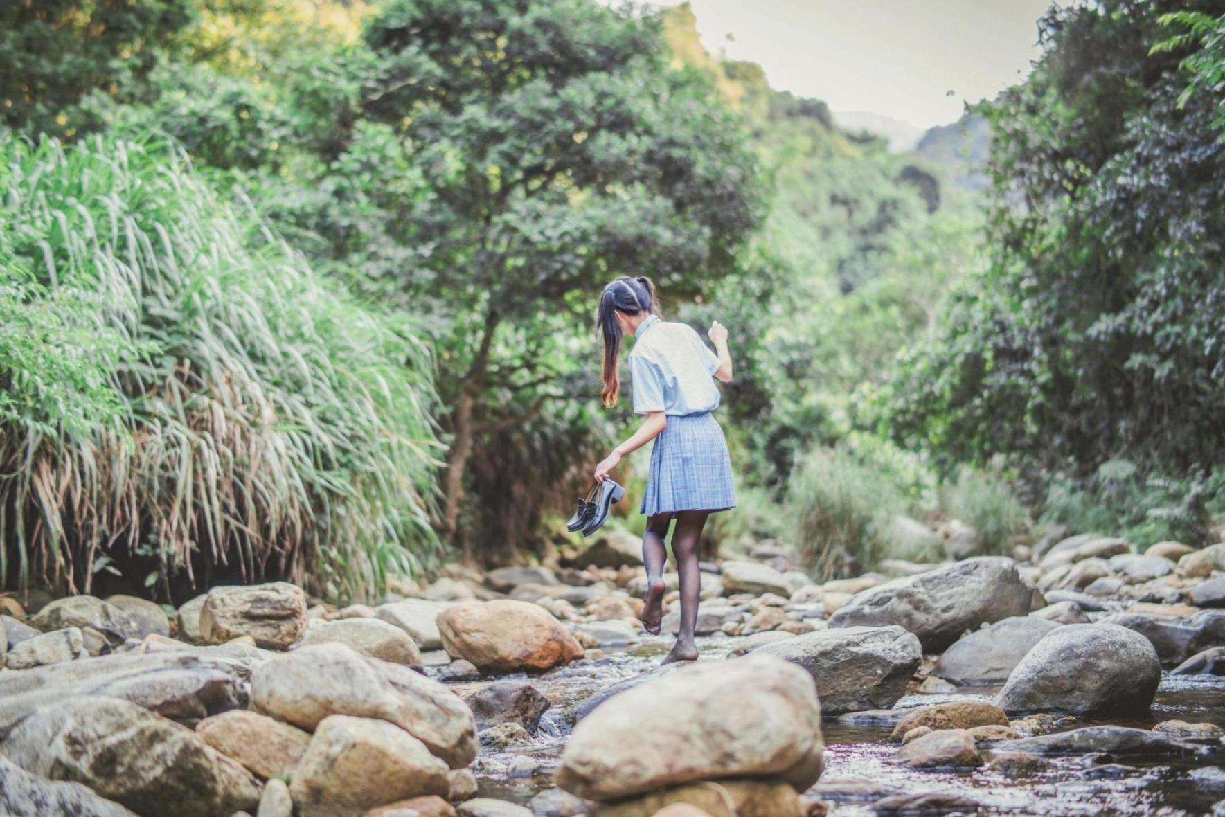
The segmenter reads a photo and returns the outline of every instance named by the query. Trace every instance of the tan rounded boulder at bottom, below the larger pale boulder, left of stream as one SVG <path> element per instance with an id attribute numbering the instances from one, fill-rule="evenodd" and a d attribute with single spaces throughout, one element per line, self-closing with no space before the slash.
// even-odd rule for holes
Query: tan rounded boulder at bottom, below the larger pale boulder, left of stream
<path id="1" fill-rule="evenodd" d="M 386 720 L 331 715 L 320 721 L 289 793 L 304 815 L 350 815 L 420 795 L 446 796 L 447 764 Z"/>

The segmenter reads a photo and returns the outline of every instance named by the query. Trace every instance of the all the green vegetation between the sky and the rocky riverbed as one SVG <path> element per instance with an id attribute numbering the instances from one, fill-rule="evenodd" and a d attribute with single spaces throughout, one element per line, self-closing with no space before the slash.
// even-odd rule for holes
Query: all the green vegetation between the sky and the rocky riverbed
<path id="1" fill-rule="evenodd" d="M 594 399 L 617 274 L 733 329 L 715 537 L 826 576 L 936 555 L 908 517 L 982 552 L 1035 521 L 1202 541 L 1218 15 L 1055 7 L 1025 82 L 895 153 L 686 5 L 10 4 L 6 581 L 360 595 L 439 545 L 548 552 L 631 421 Z"/>

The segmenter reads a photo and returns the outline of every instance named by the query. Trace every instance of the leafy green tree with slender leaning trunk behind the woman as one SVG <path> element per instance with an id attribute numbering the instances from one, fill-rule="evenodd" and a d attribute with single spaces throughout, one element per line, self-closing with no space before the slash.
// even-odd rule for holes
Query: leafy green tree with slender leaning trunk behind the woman
<path id="1" fill-rule="evenodd" d="M 407 240 L 426 251 L 390 283 L 447 321 L 453 537 L 481 440 L 576 396 L 567 375 L 589 347 L 571 338 L 600 284 L 650 274 L 692 294 L 725 274 L 757 218 L 756 168 L 707 80 L 669 69 L 649 17 L 584 0 L 399 0 L 366 43 L 380 77 L 363 109 L 424 174 Z"/>

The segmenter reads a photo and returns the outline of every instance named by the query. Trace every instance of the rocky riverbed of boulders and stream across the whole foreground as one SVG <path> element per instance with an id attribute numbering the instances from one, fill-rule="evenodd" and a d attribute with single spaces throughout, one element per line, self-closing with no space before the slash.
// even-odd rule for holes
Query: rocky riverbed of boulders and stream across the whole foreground
<path id="1" fill-rule="evenodd" d="M 1213 812 L 1225 544 L 1085 534 L 1016 556 L 817 584 L 763 544 L 703 566 L 702 657 L 668 668 L 615 533 L 371 606 L 284 583 L 173 616 L 4 599 L 0 811 Z"/>

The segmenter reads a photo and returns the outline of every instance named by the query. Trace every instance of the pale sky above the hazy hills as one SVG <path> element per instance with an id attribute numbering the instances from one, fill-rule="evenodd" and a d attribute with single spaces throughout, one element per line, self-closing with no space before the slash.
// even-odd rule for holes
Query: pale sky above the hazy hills
<path id="1" fill-rule="evenodd" d="M 652 5 L 676 5 L 655 0 Z M 1029 73 L 1050 0 L 691 0 L 706 49 L 772 87 L 920 127 Z M 728 39 L 728 34 L 733 39 Z M 948 96 L 948 92 L 953 92 Z"/>

